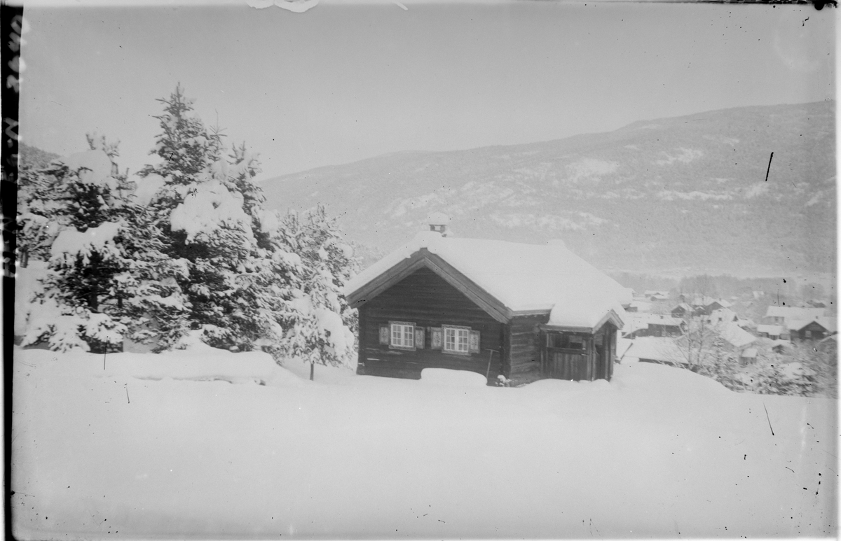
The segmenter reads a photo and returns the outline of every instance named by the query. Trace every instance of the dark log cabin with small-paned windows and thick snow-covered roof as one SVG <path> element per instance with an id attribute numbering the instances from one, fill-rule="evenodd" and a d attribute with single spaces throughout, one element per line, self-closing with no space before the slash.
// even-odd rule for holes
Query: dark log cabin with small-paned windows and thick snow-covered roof
<path id="1" fill-rule="evenodd" d="M 627 289 L 563 242 L 424 231 L 345 288 L 359 311 L 357 373 L 472 370 L 494 385 L 610 380 Z"/>

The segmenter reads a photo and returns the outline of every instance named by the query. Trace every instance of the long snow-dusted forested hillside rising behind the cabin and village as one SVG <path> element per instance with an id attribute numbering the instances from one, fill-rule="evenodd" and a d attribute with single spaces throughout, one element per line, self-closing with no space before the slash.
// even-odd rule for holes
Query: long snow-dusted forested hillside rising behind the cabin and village
<path id="1" fill-rule="evenodd" d="M 561 238 L 606 270 L 828 273 L 834 116 L 834 102 L 733 108 L 542 143 L 383 155 L 262 187 L 267 207 L 325 204 L 350 239 L 377 249 L 442 211 L 454 234 Z"/>

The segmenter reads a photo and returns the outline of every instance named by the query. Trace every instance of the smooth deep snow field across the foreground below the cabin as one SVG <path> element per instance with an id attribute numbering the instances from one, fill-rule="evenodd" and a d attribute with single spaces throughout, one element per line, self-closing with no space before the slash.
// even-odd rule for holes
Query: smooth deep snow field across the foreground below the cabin
<path id="1" fill-rule="evenodd" d="M 324 366 L 310 382 L 206 346 L 13 363 L 19 538 L 838 533 L 835 400 L 643 363 L 521 388 Z"/>

